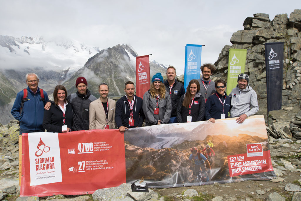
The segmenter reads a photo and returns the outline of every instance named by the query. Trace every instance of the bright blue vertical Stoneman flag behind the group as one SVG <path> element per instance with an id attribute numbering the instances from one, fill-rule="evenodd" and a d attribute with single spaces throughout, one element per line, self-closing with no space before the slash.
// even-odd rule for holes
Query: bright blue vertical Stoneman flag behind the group
<path id="1" fill-rule="evenodd" d="M 186 44 L 185 46 L 185 71 L 184 88 L 192 79 L 200 79 L 202 45 Z"/>

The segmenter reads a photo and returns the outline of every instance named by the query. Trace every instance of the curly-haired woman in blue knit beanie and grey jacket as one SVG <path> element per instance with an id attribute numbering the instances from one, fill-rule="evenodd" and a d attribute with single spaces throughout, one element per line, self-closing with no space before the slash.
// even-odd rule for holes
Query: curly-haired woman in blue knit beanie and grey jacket
<path id="1" fill-rule="evenodd" d="M 151 82 L 151 88 L 143 95 L 145 125 L 167 124 L 171 115 L 171 101 L 161 73 L 155 74 Z"/>

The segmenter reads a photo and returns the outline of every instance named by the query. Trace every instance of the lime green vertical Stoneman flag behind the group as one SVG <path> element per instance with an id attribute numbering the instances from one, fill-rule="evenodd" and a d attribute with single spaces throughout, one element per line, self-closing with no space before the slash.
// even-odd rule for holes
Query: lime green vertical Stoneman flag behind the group
<path id="1" fill-rule="evenodd" d="M 228 63 L 227 94 L 229 95 L 237 85 L 237 77 L 244 73 L 247 49 L 230 49 Z"/>

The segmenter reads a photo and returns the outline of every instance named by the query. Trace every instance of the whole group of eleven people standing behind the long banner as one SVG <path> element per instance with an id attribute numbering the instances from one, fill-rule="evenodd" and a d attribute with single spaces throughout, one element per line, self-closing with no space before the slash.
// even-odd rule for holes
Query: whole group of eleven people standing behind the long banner
<path id="1" fill-rule="evenodd" d="M 237 123 L 258 111 L 256 92 L 249 86 L 249 76 L 240 74 L 237 87 L 227 96 L 224 80 L 213 82 L 210 78 L 215 70 L 212 64 L 201 67 L 202 77 L 191 80 L 185 89 L 175 80 L 176 69 L 169 66 L 167 80 L 157 73 L 151 79 L 150 89 L 143 99 L 135 95 L 132 81 L 125 83 L 124 92 L 117 102 L 108 98 L 109 86 L 100 83 L 96 99 L 88 90 L 84 77 L 76 79 L 76 93 L 67 95 L 62 85 L 53 92 L 54 101 L 38 87 L 39 77 L 26 75 L 27 89 L 20 91 L 11 114 L 20 122 L 20 134 L 32 132 L 69 132 L 76 130 L 114 129 L 125 131 L 157 124 L 195 122 L 237 117 Z"/>

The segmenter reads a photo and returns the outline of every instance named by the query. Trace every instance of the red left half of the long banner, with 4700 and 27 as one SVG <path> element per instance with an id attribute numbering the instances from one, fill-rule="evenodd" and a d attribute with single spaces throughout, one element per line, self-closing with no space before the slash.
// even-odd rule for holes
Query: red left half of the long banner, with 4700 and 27
<path id="1" fill-rule="evenodd" d="M 119 130 L 22 135 L 20 196 L 92 194 L 126 183 Z"/>

